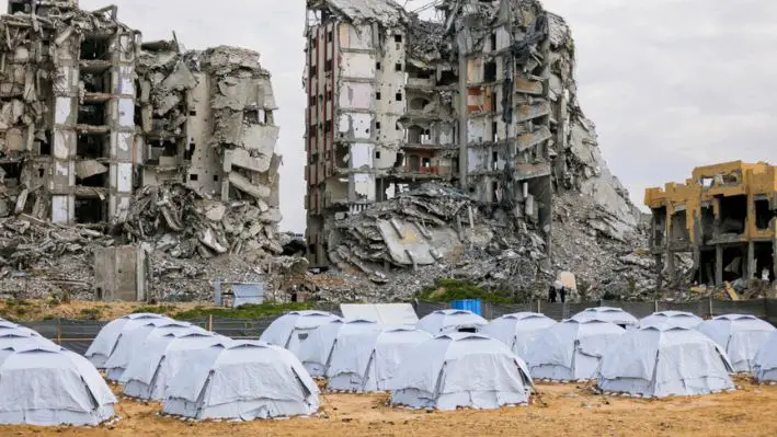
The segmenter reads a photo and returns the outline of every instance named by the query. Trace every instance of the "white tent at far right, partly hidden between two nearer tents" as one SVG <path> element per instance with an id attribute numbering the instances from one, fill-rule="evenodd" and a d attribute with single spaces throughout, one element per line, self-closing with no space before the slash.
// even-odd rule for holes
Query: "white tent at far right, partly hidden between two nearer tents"
<path id="1" fill-rule="evenodd" d="M 758 348 L 775 327 L 755 315 L 724 314 L 706 320 L 697 330 L 715 340 L 729 355 L 735 371 L 753 370 L 753 359 Z"/>

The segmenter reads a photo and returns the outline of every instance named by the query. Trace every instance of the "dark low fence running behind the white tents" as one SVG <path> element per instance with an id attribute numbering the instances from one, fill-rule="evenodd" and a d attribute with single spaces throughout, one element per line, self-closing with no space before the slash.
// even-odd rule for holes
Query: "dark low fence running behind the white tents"
<path id="1" fill-rule="evenodd" d="M 567 303 L 549 303 L 544 301 L 535 301 L 532 303 L 482 302 L 481 311 L 483 318 L 489 320 L 522 311 L 540 312 L 551 319 L 562 320 L 569 319 L 575 313 L 592 307 L 621 308 L 639 319 L 655 311 L 667 310 L 687 311 L 704 319 L 720 314 L 752 314 L 777 325 L 777 299 L 741 301 L 701 299 L 693 302 L 620 302 L 607 300 Z M 449 308 L 449 304 L 442 302 L 413 302 L 413 308 L 418 317 L 423 318 L 432 311 Z M 321 307 L 320 309 L 340 313 L 336 304 L 327 306 L 325 308 Z M 256 340 L 275 319 L 274 317 L 262 319 L 227 319 L 210 315 L 186 321 L 228 337 Z M 41 322 L 23 322 L 22 324 L 37 331 L 41 335 L 61 344 L 70 350 L 84 354 L 105 323 L 107 322 L 53 319 Z"/>

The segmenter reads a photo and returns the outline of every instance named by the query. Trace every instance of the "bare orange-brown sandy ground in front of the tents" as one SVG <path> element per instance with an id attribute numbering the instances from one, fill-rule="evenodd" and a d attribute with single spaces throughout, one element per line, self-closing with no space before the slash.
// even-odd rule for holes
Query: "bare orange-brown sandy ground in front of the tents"
<path id="1" fill-rule="evenodd" d="M 386 394 L 323 394 L 320 417 L 183 422 L 159 404 L 122 400 L 115 425 L 96 428 L 0 427 L 2 436 L 776 436 L 777 387 L 739 380 L 733 393 L 667 400 L 595 395 L 574 384 L 539 384 L 541 402 L 493 411 L 393 409 Z M 545 403 L 542 405 L 541 403 Z"/>

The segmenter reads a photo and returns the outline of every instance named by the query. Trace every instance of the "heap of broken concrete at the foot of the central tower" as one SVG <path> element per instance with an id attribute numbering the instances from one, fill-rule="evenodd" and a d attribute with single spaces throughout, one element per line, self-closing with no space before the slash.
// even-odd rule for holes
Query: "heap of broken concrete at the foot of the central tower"
<path id="1" fill-rule="evenodd" d="M 636 250 L 647 244 L 644 229 L 636 229 L 628 241 L 612 238 L 591 226 L 607 212 L 581 194 L 557 197 L 555 208 L 548 257 L 540 230 L 511 222 L 503 212 L 494 214 L 450 186 L 424 184 L 339 222 L 338 246 L 330 258 L 336 261 L 343 281 L 336 287 L 319 286 L 317 297 L 405 300 L 437 279 L 457 278 L 532 300 L 546 296 L 557 272 L 573 272 L 582 279 L 581 298 L 652 296 L 654 261 Z M 386 232 L 386 221 L 400 232 Z M 413 266 L 392 249 L 411 244 L 418 255 L 423 246 L 419 240 L 436 254 L 432 262 Z"/>

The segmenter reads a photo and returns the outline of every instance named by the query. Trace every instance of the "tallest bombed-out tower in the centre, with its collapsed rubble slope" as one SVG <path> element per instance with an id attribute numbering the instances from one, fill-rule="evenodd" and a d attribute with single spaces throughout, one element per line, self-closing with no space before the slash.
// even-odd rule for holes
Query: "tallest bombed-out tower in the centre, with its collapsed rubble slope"
<path id="1" fill-rule="evenodd" d="M 307 2 L 310 263 L 379 281 L 501 248 L 530 258 L 532 280 L 606 283 L 622 263 L 580 260 L 573 242 L 593 233 L 592 251 L 625 256 L 640 212 L 578 103 L 569 26 L 537 0 L 435 5 L 442 20 L 393 0 Z"/>

